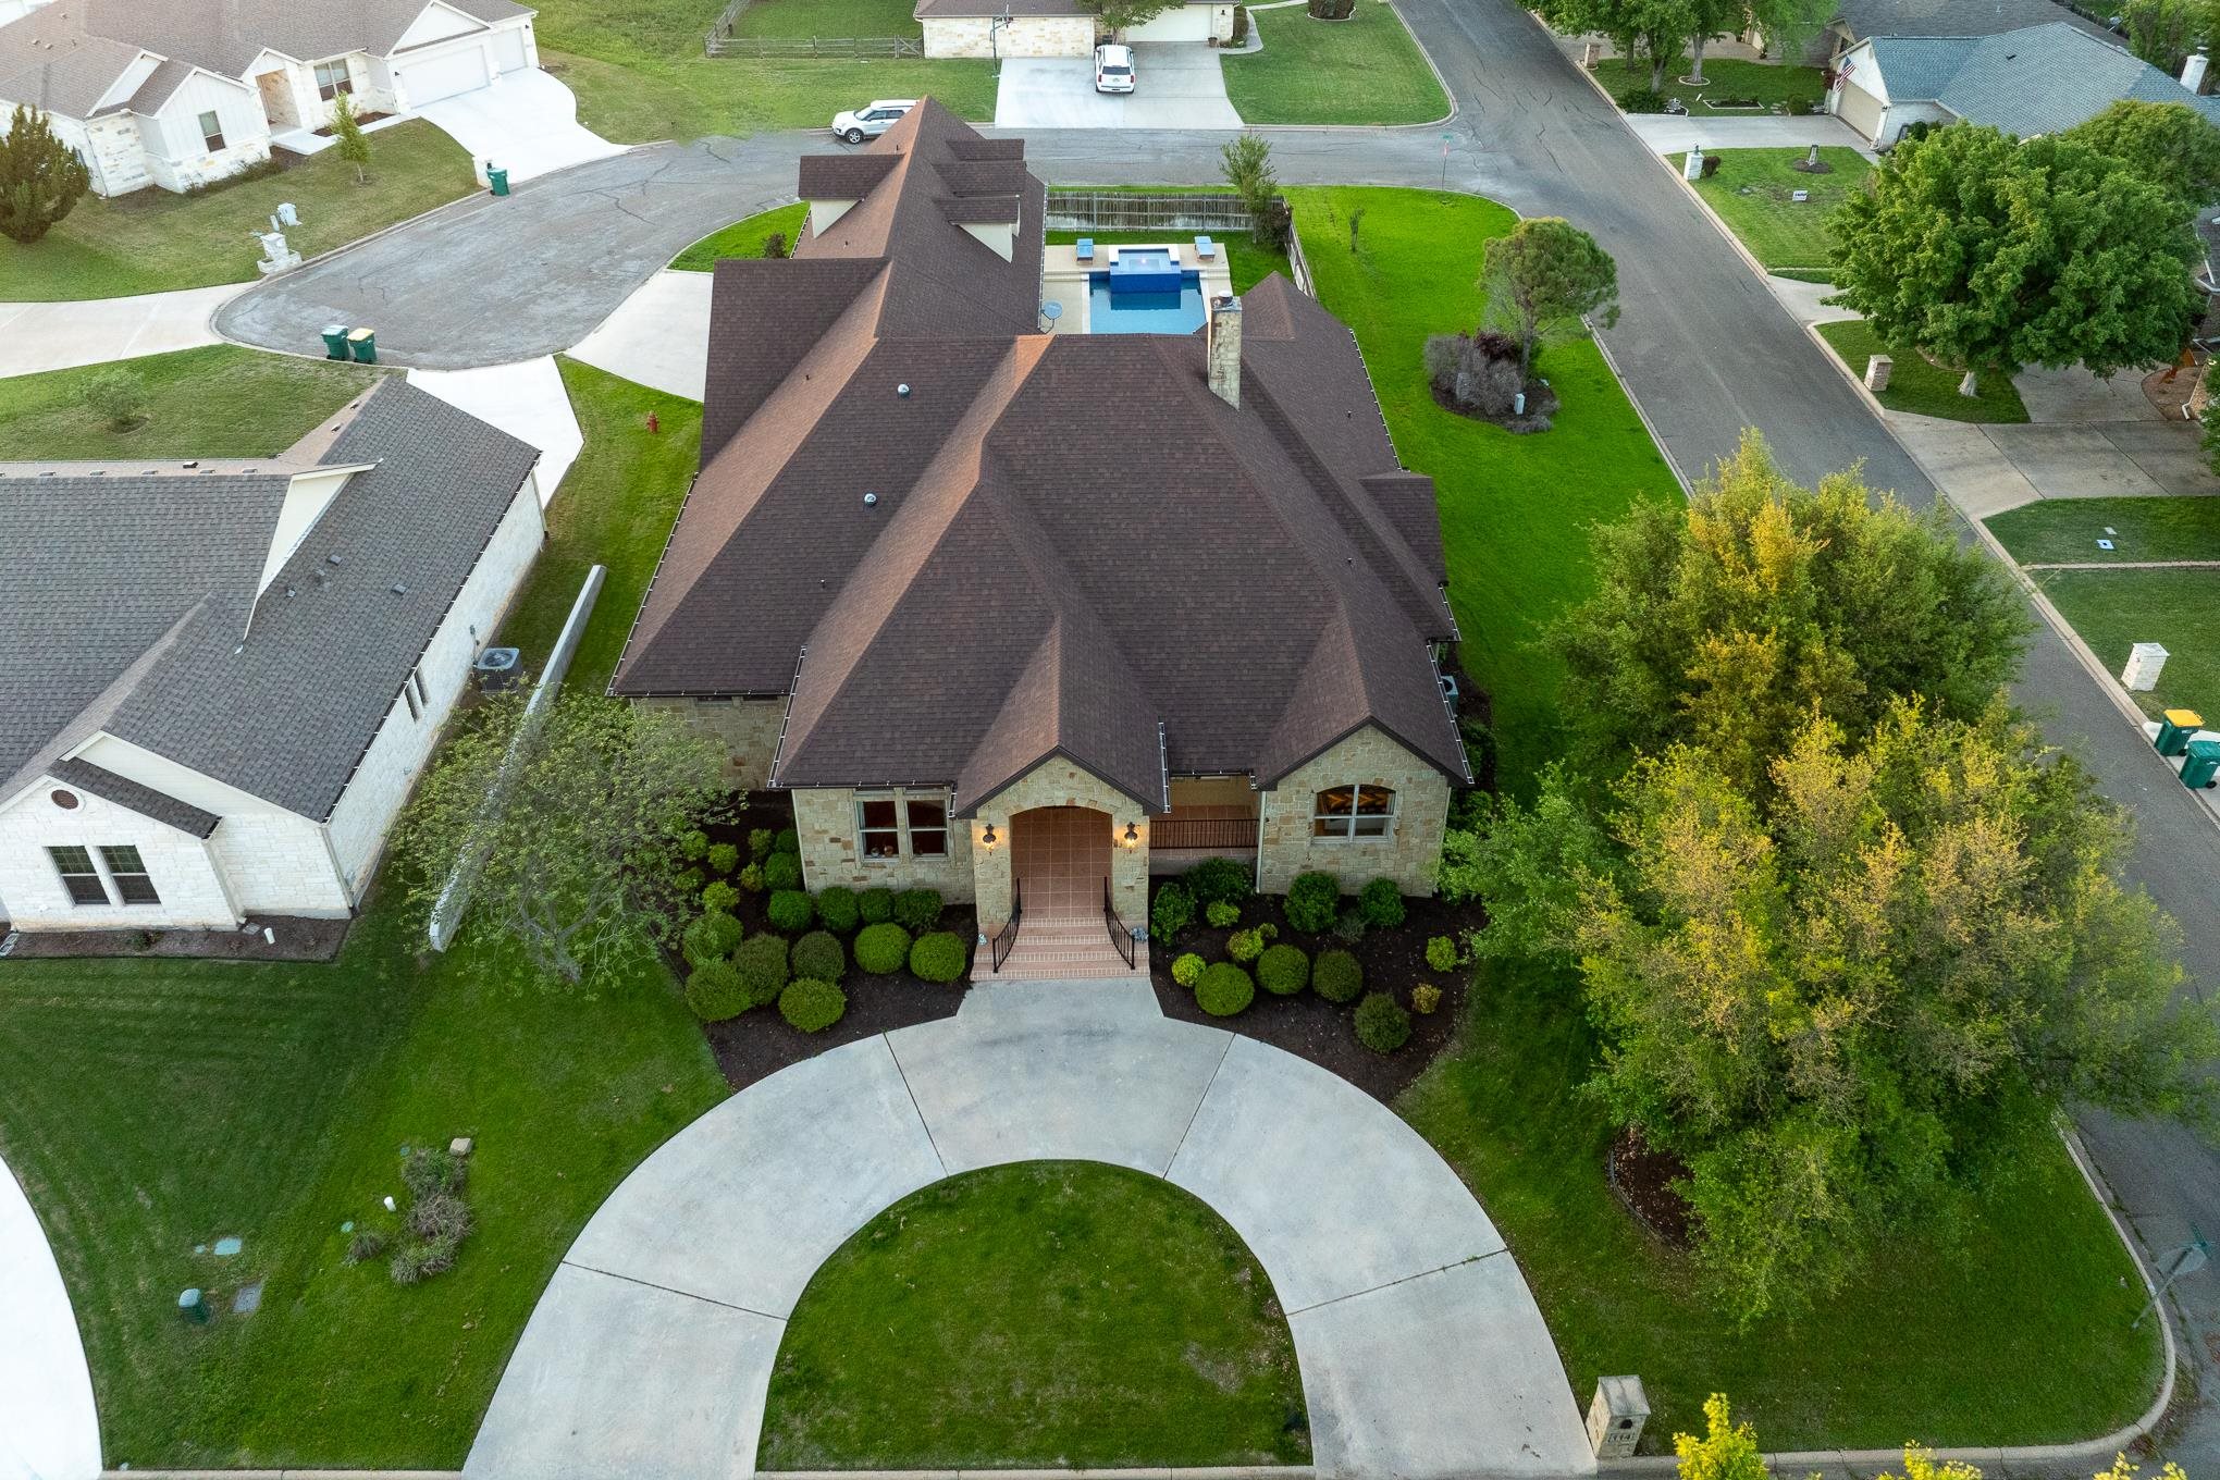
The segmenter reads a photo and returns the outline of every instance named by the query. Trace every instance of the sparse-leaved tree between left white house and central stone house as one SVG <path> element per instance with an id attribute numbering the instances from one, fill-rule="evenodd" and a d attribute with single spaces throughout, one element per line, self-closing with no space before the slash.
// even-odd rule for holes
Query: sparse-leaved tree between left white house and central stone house
<path id="1" fill-rule="evenodd" d="M 426 919 L 460 865 L 464 943 L 506 941 L 591 985 L 675 939 L 688 912 L 677 843 L 722 799 L 724 748 L 670 712 L 566 695 L 528 719 L 511 695 L 442 746 L 395 848 Z"/>

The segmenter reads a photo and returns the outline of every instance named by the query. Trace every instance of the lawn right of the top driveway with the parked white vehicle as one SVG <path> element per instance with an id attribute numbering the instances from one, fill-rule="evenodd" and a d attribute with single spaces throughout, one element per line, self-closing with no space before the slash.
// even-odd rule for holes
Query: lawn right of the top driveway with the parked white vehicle
<path id="1" fill-rule="evenodd" d="M 1250 11 L 1250 24 L 1263 51 L 1219 58 L 1243 122 L 1425 124 L 1450 113 L 1425 51 L 1385 0 L 1359 0 L 1348 20 L 1312 20 L 1303 7 Z"/>

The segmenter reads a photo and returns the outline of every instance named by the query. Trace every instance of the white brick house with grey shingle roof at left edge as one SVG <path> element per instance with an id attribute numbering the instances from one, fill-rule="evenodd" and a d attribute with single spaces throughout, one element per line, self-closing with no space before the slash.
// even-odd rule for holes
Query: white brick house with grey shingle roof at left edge
<path id="1" fill-rule="evenodd" d="M 535 459 L 389 377 L 278 457 L 0 464 L 0 919 L 351 914 L 539 550 Z"/>

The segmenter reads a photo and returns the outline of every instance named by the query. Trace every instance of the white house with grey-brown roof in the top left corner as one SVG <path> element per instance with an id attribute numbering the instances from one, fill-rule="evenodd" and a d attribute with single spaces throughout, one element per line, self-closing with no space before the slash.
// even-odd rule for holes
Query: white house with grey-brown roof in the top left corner
<path id="1" fill-rule="evenodd" d="M 0 129 L 42 109 L 100 195 L 235 175 L 340 93 L 400 115 L 537 64 L 513 0 L 0 0 Z"/>

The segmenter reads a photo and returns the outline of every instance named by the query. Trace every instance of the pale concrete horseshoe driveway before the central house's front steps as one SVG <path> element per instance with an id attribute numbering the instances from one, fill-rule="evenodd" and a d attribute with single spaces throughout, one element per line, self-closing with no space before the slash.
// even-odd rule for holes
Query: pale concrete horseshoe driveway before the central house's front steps
<path id="1" fill-rule="evenodd" d="M 1503 1238 L 1403 1121 L 1146 983 L 972 987 L 735 1094 L 602 1205 L 517 1342 L 473 1480 L 755 1473 L 786 1318 L 866 1220 L 946 1176 L 1103 1160 L 1185 1187 L 1279 1291 L 1319 1476 L 1596 1469 Z"/>

